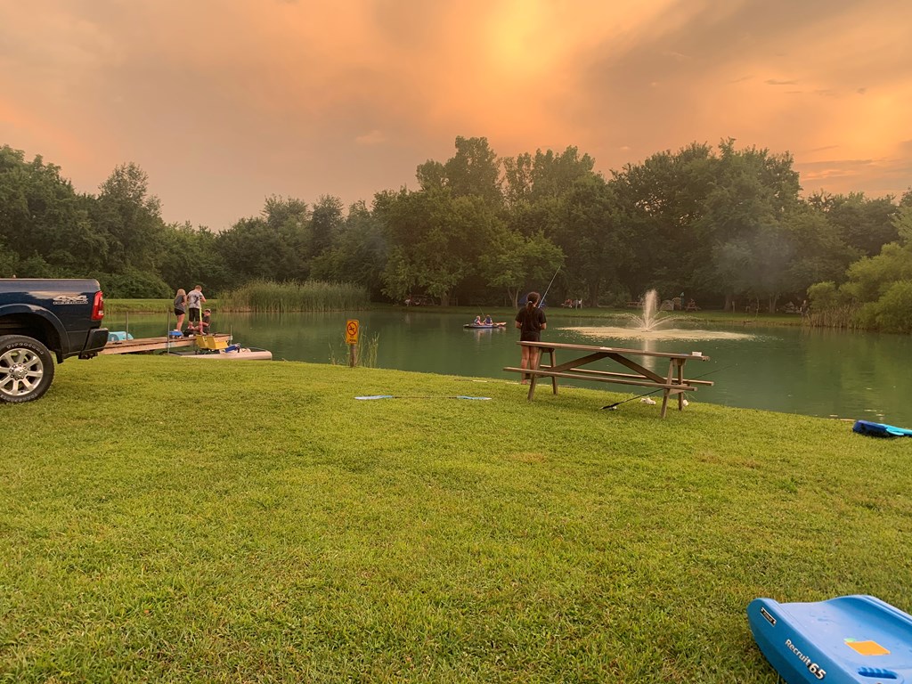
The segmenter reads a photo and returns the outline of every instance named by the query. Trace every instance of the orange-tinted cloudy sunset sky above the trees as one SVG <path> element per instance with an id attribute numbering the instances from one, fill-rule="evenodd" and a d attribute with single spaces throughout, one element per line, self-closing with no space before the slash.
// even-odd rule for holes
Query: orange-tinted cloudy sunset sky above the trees
<path id="1" fill-rule="evenodd" d="M 414 188 L 456 136 L 606 176 L 735 138 L 805 192 L 912 185 L 909 0 L 0 0 L 0 144 L 167 221 Z"/>

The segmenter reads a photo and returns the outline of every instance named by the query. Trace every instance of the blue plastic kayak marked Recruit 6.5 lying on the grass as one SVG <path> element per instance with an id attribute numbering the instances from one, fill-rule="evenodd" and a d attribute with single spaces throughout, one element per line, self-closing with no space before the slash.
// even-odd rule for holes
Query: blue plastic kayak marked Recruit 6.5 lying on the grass
<path id="1" fill-rule="evenodd" d="M 912 616 L 879 598 L 756 598 L 747 617 L 757 646 L 788 684 L 912 684 Z"/>

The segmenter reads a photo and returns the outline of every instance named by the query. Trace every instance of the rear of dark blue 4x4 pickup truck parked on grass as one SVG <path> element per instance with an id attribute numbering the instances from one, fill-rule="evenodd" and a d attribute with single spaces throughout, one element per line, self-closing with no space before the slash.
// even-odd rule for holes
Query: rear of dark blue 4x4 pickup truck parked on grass
<path id="1" fill-rule="evenodd" d="M 104 315 L 97 280 L 0 278 L 0 403 L 44 395 L 55 357 L 98 355 L 108 342 Z"/>

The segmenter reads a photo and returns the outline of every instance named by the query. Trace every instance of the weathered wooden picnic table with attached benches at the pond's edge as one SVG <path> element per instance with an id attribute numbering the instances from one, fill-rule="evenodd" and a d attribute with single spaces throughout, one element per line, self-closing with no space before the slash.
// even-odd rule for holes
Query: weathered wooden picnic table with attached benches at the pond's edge
<path id="1" fill-rule="evenodd" d="M 634 385 L 662 391 L 662 414 L 665 418 L 668 410 L 668 398 L 678 397 L 678 410 L 684 409 L 684 394 L 697 389 L 699 385 L 712 385 L 711 380 L 697 380 L 684 378 L 684 365 L 689 360 L 709 361 L 699 351 L 689 354 L 676 354 L 665 351 L 646 351 L 644 349 L 624 349 L 619 347 L 592 347 L 589 345 L 573 345 L 562 342 L 519 342 L 523 347 L 541 349 L 542 356 L 548 354 L 550 363 L 539 364 L 539 368 L 503 368 L 516 373 L 530 376 L 529 400 L 534 399 L 535 385 L 538 378 L 551 378 L 554 394 L 557 394 L 557 378 L 571 378 L 575 380 L 595 380 L 598 382 L 613 382 L 618 385 Z M 555 359 L 556 351 L 568 353 L 570 358 L 558 364 Z M 600 368 L 582 368 L 602 359 L 615 361 L 621 366 L 632 370 L 632 373 L 604 370 Z M 663 377 L 657 372 L 649 370 L 634 358 L 659 358 L 668 359 L 668 373 Z M 539 357 L 541 360 L 541 357 Z"/>

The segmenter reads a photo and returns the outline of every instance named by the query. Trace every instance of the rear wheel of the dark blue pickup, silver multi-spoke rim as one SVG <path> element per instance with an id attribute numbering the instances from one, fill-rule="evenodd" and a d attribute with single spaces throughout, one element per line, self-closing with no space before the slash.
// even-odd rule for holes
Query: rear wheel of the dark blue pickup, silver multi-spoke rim
<path id="1" fill-rule="evenodd" d="M 54 381 L 54 359 L 47 347 L 32 337 L 0 337 L 0 402 L 39 399 Z"/>

